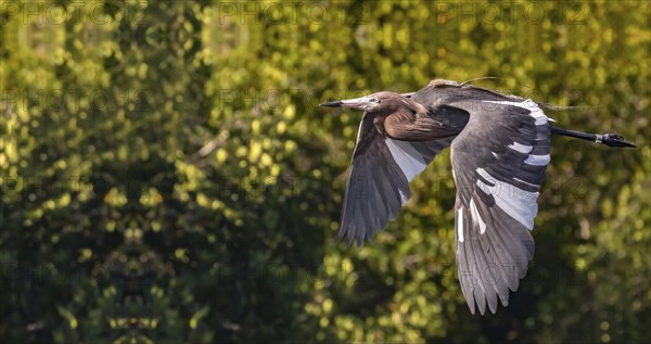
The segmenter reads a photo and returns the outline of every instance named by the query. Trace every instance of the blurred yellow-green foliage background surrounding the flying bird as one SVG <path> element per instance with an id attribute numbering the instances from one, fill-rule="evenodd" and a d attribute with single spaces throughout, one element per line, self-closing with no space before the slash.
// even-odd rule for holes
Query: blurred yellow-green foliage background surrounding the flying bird
<path id="1" fill-rule="evenodd" d="M 639 343 L 651 326 L 650 4 L 0 1 L 2 343 Z M 472 316 L 449 153 L 335 243 L 359 113 L 463 81 L 575 111 L 535 260 Z"/>

